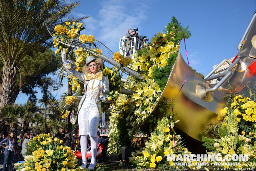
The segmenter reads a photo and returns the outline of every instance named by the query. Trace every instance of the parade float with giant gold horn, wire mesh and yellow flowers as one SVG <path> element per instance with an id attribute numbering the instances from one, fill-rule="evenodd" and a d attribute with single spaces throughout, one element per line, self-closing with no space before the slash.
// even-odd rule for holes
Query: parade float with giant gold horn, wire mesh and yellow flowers
<path id="1" fill-rule="evenodd" d="M 239 53 L 236 58 L 233 61 L 224 59 L 205 78 L 193 71 L 181 56 L 180 42 L 184 40 L 185 43 L 185 38 L 189 38 L 190 32 L 187 28 L 182 28 L 175 17 L 163 32 L 158 32 L 151 38 L 150 43 L 141 47 L 138 45 L 137 51 L 131 54 L 132 58 L 125 56 L 125 49 L 113 53 L 100 41 L 95 40 L 93 35 L 80 35 L 82 23 L 50 20 L 45 22 L 45 25 L 54 38 L 54 47 L 57 48 L 55 53 L 59 53 L 63 47 L 67 52 L 76 48 L 75 61 L 69 61 L 76 64 L 77 71 L 82 71 L 81 68 L 89 55 L 100 57 L 114 66 L 106 67 L 103 71 L 110 83 L 107 99 L 111 103 L 102 105 L 102 111 L 109 117 L 109 153 L 118 154 L 122 146 L 131 146 L 138 135 L 147 135 L 142 150 L 134 151 L 130 158 L 130 162 L 135 163 L 138 168 L 204 168 L 196 160 L 187 161 L 187 165 L 177 164 L 184 163 L 183 160 L 176 163 L 167 161 L 168 155 L 171 154 L 192 155 L 190 150 L 193 149 L 186 148 L 186 144 L 190 142 L 183 139 L 183 136 L 189 136 L 191 142 L 203 141 L 208 154 L 248 154 L 248 160 L 240 165 L 221 165 L 241 169 L 255 167 L 256 160 L 255 16 L 256 14 L 238 46 Z M 55 27 L 50 29 L 49 26 L 52 25 Z M 224 63 L 230 66 L 223 73 L 213 75 Z M 126 79 L 122 79 L 121 71 L 127 75 Z M 82 93 L 82 81 L 68 76 L 63 68 L 60 75 L 69 79 L 74 92 Z M 217 84 L 208 82 L 216 78 Z M 79 96 L 67 96 L 66 106 L 76 104 L 78 98 Z M 76 124 L 75 112 L 66 112 L 63 117 L 68 115 L 71 115 L 72 124 Z M 39 149 L 44 152 L 41 157 L 45 155 L 47 159 L 47 155 L 50 155 L 48 153 L 53 152 L 50 150 L 52 139 L 46 135 L 43 137 L 48 142 L 43 141 L 40 144 L 48 146 L 44 148 L 39 144 L 38 149 L 42 148 Z M 36 160 L 38 149 L 31 150 L 32 153 L 26 160 Z M 57 155 L 57 150 L 54 150 L 54 155 Z M 73 154 L 69 155 L 73 161 Z M 47 162 L 46 159 L 41 163 Z M 226 161 L 230 162 L 225 158 L 221 162 Z M 69 169 L 65 168 L 68 165 L 64 166 L 64 162 L 63 160 L 64 169 Z M 211 164 L 214 162 L 216 161 L 209 161 L 207 158 L 201 161 Z M 35 164 L 33 163 L 33 166 Z M 47 166 L 47 163 L 45 164 Z M 22 166 L 26 168 L 25 165 Z M 39 163 L 37 167 L 41 166 L 44 167 Z M 72 169 L 79 170 L 76 164 L 72 166 Z"/>

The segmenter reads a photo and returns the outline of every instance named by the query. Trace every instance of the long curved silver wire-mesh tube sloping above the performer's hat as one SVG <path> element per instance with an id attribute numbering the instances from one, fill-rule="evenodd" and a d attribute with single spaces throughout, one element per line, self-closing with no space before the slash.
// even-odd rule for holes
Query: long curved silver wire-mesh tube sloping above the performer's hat
<path id="1" fill-rule="evenodd" d="M 45 26 L 53 38 L 54 38 L 53 34 L 55 34 L 54 26 L 57 25 L 58 23 L 62 23 L 60 19 L 48 20 L 45 22 Z M 100 41 L 94 40 L 93 44 L 89 43 L 89 42 L 81 43 L 79 41 L 78 37 L 79 36 L 76 36 L 74 39 L 72 39 L 72 41 L 69 38 L 63 38 L 63 41 L 60 41 L 60 40 L 56 40 L 56 41 L 58 41 L 62 44 L 68 45 L 70 47 L 82 48 L 83 50 L 86 50 L 86 51 L 100 57 L 102 60 L 106 61 L 107 63 L 110 63 L 113 66 L 116 66 L 121 71 L 123 71 L 125 74 L 135 77 L 135 78 L 143 79 L 143 76 L 141 73 L 134 71 L 133 69 L 130 69 L 126 66 L 121 66 L 120 63 L 116 62 L 113 59 L 114 53 Z M 99 55 L 98 52 L 96 52 L 96 48 L 102 50 L 101 55 Z M 59 74 L 64 75 L 65 77 L 67 75 L 67 73 L 65 73 L 63 71 L 63 69 L 61 69 L 61 72 Z"/>

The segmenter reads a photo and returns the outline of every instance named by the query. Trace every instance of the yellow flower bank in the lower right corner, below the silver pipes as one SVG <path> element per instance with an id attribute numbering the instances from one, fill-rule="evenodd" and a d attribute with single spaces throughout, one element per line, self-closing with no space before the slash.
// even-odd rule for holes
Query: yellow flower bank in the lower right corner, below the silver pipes
<path id="1" fill-rule="evenodd" d="M 254 121 L 256 104 L 250 98 L 235 96 L 230 106 L 222 110 L 224 121 L 218 130 L 218 137 L 214 139 L 214 150 L 209 154 L 248 154 L 248 161 L 240 161 L 238 166 L 224 166 L 226 168 L 255 167 L 256 161 L 256 124 Z M 233 160 L 223 162 L 235 162 Z"/>

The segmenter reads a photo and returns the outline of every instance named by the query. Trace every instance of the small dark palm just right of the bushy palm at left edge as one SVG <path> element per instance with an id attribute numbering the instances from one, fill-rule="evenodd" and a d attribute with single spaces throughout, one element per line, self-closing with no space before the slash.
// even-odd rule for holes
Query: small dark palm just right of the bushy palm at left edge
<path id="1" fill-rule="evenodd" d="M 29 129 L 29 123 L 32 120 L 32 113 L 35 113 L 38 109 L 34 102 L 31 102 L 28 100 L 26 103 L 24 103 L 23 108 L 25 110 L 25 113 L 22 117 L 23 119 L 23 134 L 28 131 Z"/>

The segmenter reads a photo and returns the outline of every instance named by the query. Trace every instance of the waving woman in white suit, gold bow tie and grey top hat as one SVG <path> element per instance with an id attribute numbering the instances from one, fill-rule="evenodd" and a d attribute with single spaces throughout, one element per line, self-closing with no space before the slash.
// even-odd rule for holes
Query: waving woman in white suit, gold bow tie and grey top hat
<path id="1" fill-rule="evenodd" d="M 76 71 L 76 66 L 70 61 L 66 60 L 66 50 L 61 50 L 61 57 L 64 66 L 69 75 L 73 75 L 81 81 L 84 81 L 85 93 L 78 105 L 78 124 L 79 135 L 81 136 L 80 145 L 83 164 L 86 168 L 86 148 L 87 137 L 91 137 L 92 157 L 88 169 L 94 169 L 96 164 L 97 153 L 97 131 L 99 120 L 101 117 L 101 101 L 108 102 L 105 98 L 109 90 L 109 80 L 102 75 L 103 61 L 100 58 L 88 56 L 86 64 L 83 66 L 83 72 Z"/>

